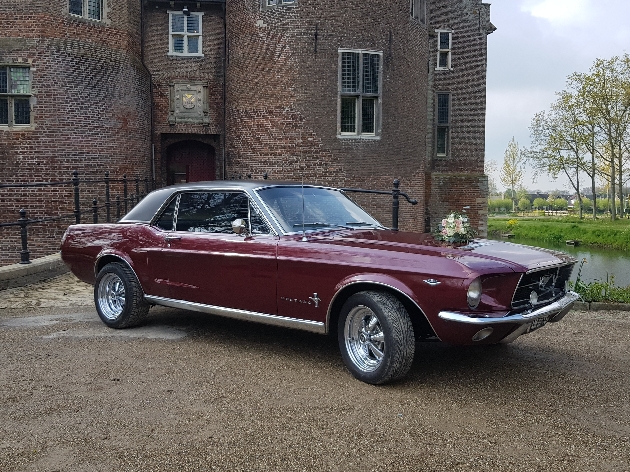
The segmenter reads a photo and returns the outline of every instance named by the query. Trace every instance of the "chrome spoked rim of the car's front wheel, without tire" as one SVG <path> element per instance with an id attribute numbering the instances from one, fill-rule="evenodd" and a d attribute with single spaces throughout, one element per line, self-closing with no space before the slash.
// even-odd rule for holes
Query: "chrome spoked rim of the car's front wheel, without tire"
<path id="1" fill-rule="evenodd" d="M 374 372 L 385 356 L 385 335 L 378 317 L 363 305 L 355 306 L 344 325 L 346 351 L 363 372 Z"/>

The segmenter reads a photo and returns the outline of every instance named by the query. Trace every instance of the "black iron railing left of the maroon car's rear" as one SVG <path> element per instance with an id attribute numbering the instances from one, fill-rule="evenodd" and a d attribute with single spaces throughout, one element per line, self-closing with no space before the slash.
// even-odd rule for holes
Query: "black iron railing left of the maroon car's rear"
<path id="1" fill-rule="evenodd" d="M 116 185 L 122 195 L 116 195 L 112 200 L 112 186 Z M 82 189 L 87 186 L 85 191 L 91 191 L 91 206 L 81 204 Z M 136 203 L 149 193 L 150 188 L 154 188 L 154 182 L 148 178 L 110 178 L 109 172 L 105 172 L 103 179 L 81 179 L 79 173 L 75 170 L 72 172 L 72 178 L 66 181 L 58 182 L 33 182 L 22 184 L 0 184 L 0 189 L 26 189 L 26 188 L 43 188 L 43 187 L 69 187 L 72 189 L 73 210 L 71 213 L 62 213 L 57 216 L 29 218 L 26 209 L 19 210 L 20 218 L 14 222 L 0 223 L 0 228 L 8 226 L 18 226 L 20 228 L 20 239 L 22 249 L 20 251 L 20 264 L 30 264 L 30 251 L 28 250 L 28 227 L 36 224 L 45 224 L 51 222 L 60 222 L 64 220 L 74 220 L 74 223 L 81 223 L 81 218 L 85 214 L 91 214 L 93 223 L 99 222 L 99 212 L 104 211 L 105 222 L 111 223 L 112 214 L 115 219 L 126 214 Z M 94 192 L 97 196 L 94 196 Z M 98 193 L 100 191 L 100 194 Z M 99 204 L 99 198 L 101 204 Z"/>

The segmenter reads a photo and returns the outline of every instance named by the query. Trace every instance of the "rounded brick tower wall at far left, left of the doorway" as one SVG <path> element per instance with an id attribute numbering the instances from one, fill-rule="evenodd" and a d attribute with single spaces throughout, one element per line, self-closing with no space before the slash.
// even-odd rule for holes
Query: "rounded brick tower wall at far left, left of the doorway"
<path id="1" fill-rule="evenodd" d="M 35 13 L 34 13 L 35 12 Z M 140 60 L 140 2 L 108 0 L 105 22 L 67 14 L 67 0 L 0 0 L 0 63 L 32 70 L 34 126 L 0 130 L 0 182 L 102 179 L 150 172 L 148 74 Z M 83 205 L 91 205 L 84 192 Z M 72 190 L 0 189 L 0 222 L 56 216 Z M 58 250 L 63 224 L 29 228 L 31 257 Z M 19 230 L 0 230 L 0 264 L 19 261 Z"/>

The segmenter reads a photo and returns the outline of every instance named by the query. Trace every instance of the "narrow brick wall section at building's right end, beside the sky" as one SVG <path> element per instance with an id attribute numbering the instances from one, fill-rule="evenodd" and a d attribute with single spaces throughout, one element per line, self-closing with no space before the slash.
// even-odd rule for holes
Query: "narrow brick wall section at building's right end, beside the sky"
<path id="1" fill-rule="evenodd" d="M 432 0 L 429 18 L 429 112 L 427 210 L 434 231 L 443 216 L 470 206 L 480 235 L 487 234 L 487 177 L 484 175 L 486 62 L 489 5 L 480 0 Z M 451 70 L 435 70 L 437 29 L 452 30 Z M 435 153 L 435 93 L 450 92 L 450 150 Z"/>

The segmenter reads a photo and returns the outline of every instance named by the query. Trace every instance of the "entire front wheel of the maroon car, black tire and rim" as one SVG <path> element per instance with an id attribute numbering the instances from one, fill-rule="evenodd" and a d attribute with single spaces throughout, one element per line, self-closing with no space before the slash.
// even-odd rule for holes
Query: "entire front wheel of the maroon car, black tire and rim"
<path id="1" fill-rule="evenodd" d="M 363 382 L 390 382 L 411 368 L 413 326 L 393 295 L 372 291 L 352 295 L 341 308 L 337 336 L 343 362 Z"/>

